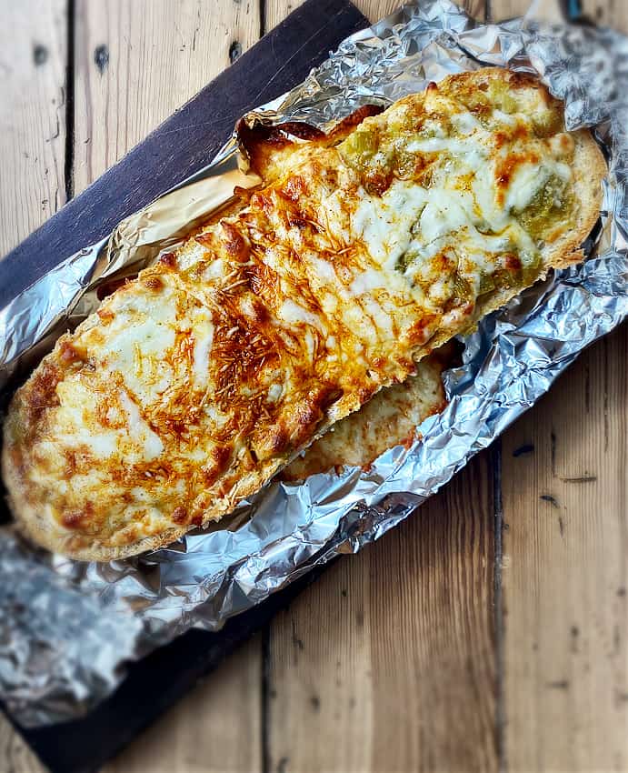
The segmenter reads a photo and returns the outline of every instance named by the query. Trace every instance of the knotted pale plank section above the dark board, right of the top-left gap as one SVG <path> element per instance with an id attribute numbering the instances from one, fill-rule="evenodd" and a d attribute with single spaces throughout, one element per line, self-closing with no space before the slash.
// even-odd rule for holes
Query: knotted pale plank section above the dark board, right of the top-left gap
<path id="1" fill-rule="evenodd" d="M 78 0 L 75 192 L 260 35 L 259 0 Z"/>

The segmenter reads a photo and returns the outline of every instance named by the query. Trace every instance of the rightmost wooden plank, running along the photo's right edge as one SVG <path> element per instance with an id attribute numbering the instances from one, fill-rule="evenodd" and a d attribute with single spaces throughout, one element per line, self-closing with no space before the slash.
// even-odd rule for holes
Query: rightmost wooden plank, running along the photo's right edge
<path id="1" fill-rule="evenodd" d="M 493 0 L 495 15 L 509 15 Z M 628 30 L 628 8 L 585 0 Z M 503 437 L 505 758 L 628 769 L 628 328 Z"/>

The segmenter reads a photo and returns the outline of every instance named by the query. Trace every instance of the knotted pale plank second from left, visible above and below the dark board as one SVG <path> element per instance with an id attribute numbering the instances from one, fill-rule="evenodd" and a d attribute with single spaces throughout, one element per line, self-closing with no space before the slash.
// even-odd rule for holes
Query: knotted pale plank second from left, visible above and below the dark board
<path id="1" fill-rule="evenodd" d="M 78 0 L 76 11 L 76 193 L 260 33 L 256 0 L 213 4 L 211 13 L 202 0 Z M 105 770 L 258 769 L 261 674 L 255 637 Z"/>

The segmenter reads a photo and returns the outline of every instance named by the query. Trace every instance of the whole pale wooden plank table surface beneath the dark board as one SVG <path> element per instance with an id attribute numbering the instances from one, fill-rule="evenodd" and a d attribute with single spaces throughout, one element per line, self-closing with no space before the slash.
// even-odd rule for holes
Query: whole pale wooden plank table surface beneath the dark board
<path id="1" fill-rule="evenodd" d="M 298 2 L 0 0 L 0 254 Z M 107 773 L 628 770 L 627 354 L 623 326 Z M 0 771 L 41 769 L 0 718 Z"/>

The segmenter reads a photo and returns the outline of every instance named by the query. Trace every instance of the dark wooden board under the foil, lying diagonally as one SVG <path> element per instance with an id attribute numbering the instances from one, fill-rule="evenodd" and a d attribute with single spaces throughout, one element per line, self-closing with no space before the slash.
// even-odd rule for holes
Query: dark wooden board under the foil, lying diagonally
<path id="1" fill-rule="evenodd" d="M 347 0 L 301 5 L 6 256 L 0 262 L 0 303 L 205 166 L 240 115 L 300 83 L 344 37 L 367 25 Z M 219 633 L 190 631 L 131 665 L 115 694 L 83 719 L 26 729 L 7 716 L 52 773 L 98 770 L 321 571 L 235 617 Z"/>

